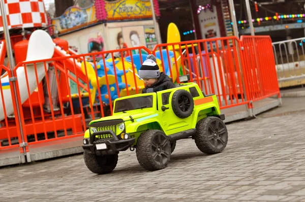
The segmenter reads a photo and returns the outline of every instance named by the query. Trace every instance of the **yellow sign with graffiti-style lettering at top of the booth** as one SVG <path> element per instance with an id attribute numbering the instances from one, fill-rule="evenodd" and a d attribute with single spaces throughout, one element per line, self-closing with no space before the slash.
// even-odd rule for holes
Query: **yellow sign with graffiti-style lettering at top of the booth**
<path id="1" fill-rule="evenodd" d="M 105 1 L 107 20 L 151 18 L 149 0 L 120 0 L 115 2 Z"/>

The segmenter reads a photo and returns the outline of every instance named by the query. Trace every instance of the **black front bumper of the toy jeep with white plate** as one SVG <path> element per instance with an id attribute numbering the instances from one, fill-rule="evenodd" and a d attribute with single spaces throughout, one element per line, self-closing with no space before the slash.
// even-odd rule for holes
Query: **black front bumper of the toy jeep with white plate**
<path id="1" fill-rule="evenodd" d="M 112 134 L 112 138 L 95 140 L 95 137 L 101 134 Z M 97 155 L 116 154 L 120 151 L 126 151 L 131 145 L 134 144 L 135 138 L 126 140 L 119 140 L 112 130 L 97 131 L 90 137 L 90 142 L 83 145 L 83 149 L 89 153 Z M 106 149 L 97 149 L 97 144 L 106 144 Z"/>

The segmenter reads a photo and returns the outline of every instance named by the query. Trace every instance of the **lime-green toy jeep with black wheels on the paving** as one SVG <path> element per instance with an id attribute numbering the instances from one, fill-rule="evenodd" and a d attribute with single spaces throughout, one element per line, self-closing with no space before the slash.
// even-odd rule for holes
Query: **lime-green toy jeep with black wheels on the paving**
<path id="1" fill-rule="evenodd" d="M 189 80 L 181 76 L 180 82 Z M 93 120 L 83 139 L 84 161 L 96 174 L 110 173 L 118 152 L 130 148 L 149 171 L 164 169 L 177 140 L 193 138 L 206 154 L 224 150 L 228 131 L 216 95 L 204 95 L 196 83 L 120 97 L 113 115 Z"/>

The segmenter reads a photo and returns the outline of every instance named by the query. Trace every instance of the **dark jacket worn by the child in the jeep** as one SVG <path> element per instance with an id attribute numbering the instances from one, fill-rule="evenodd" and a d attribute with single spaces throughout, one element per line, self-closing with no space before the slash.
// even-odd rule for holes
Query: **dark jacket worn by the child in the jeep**
<path id="1" fill-rule="evenodd" d="M 142 93 L 157 92 L 157 91 L 166 90 L 166 89 L 170 89 L 170 88 L 174 88 L 174 87 L 175 87 L 175 84 L 170 80 L 170 78 L 166 74 L 161 72 L 160 77 L 158 78 L 158 81 L 149 87 L 145 86 L 145 88 L 142 90 Z"/>

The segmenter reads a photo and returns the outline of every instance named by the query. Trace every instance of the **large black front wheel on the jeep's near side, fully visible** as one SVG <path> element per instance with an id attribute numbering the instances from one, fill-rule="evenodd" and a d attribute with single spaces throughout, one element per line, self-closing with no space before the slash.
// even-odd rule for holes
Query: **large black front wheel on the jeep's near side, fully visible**
<path id="1" fill-rule="evenodd" d="M 140 165 L 148 171 L 164 169 L 170 160 L 170 143 L 161 130 L 143 132 L 138 139 L 136 149 Z"/>

